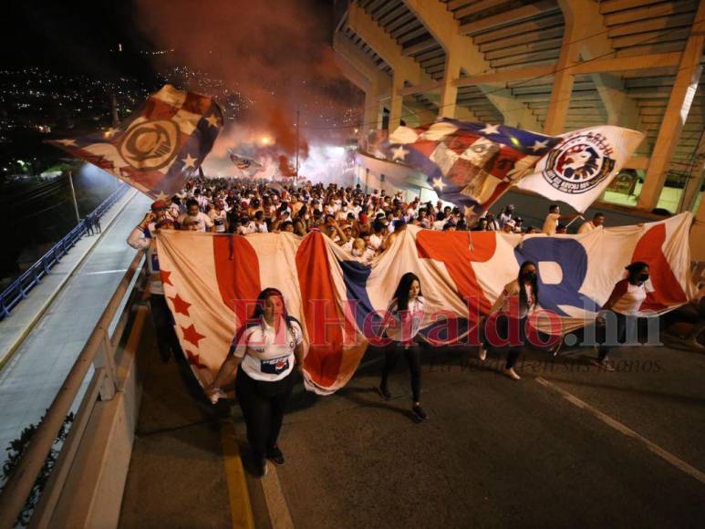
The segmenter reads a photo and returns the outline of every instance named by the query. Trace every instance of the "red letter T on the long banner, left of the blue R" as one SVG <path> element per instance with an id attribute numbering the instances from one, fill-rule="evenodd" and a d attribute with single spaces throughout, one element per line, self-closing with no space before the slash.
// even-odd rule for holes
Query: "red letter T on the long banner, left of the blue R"
<path id="1" fill-rule="evenodd" d="M 471 316 L 479 313 L 487 314 L 492 306 L 477 281 L 471 263 L 489 261 L 496 247 L 497 240 L 494 232 L 421 230 L 416 235 L 419 257 L 441 261 L 446 265 L 458 294 L 463 300 L 469 300 Z"/>

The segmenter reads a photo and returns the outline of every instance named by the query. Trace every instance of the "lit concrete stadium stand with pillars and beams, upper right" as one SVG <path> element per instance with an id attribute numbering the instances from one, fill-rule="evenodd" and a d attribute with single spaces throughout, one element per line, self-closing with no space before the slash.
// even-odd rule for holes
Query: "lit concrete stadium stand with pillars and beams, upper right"
<path id="1" fill-rule="evenodd" d="M 355 0 L 337 7 L 333 47 L 365 92 L 363 134 L 437 116 L 546 134 L 601 124 L 641 130 L 647 138 L 626 166 L 644 179 L 633 213 L 654 210 L 669 177 L 684 187 L 670 213 L 695 209 L 705 168 L 703 2 Z M 377 162 L 361 164 L 379 176 Z M 692 241 L 705 240 L 705 202 L 694 213 Z M 703 246 L 693 246 L 699 260 Z"/>

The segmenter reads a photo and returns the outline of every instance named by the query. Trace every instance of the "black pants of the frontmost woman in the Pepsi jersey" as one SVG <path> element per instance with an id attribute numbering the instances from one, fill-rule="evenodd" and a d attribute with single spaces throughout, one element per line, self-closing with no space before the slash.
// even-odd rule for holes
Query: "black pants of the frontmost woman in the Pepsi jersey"
<path id="1" fill-rule="evenodd" d="M 238 368 L 235 377 L 235 395 L 243 410 L 247 427 L 247 441 L 254 461 L 262 461 L 267 449 L 272 448 L 282 429 L 286 401 L 294 384 L 294 371 L 275 382 L 255 380 Z"/>

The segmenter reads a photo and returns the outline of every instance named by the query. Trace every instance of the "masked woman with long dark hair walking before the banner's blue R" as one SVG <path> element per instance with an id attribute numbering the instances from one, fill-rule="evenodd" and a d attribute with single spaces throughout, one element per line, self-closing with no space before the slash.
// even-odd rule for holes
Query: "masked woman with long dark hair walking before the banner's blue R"
<path id="1" fill-rule="evenodd" d="M 507 362 L 504 365 L 503 373 L 510 379 L 522 379 L 514 370 L 516 360 L 522 352 L 522 347 L 526 343 L 526 318 L 538 307 L 538 276 L 536 275 L 536 265 L 531 261 L 524 261 L 519 267 L 519 275 L 513 281 L 504 285 L 502 294 L 496 299 L 494 305 L 490 309 L 490 314 L 485 319 L 487 321 L 494 313 L 499 312 L 497 316 L 496 328 L 499 336 L 513 337 L 513 333 L 509 332 L 510 326 L 518 325 L 518 342 L 509 344 L 509 352 L 507 353 Z M 487 348 L 491 347 L 492 343 L 488 341 L 487 332 L 485 329 L 485 338 L 480 346 L 480 359 L 487 358 Z"/>

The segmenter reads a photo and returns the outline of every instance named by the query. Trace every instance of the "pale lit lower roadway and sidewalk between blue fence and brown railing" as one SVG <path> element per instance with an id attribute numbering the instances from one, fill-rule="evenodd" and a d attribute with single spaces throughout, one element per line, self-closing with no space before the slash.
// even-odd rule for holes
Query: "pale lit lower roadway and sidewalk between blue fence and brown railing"
<path id="1" fill-rule="evenodd" d="M 134 258 L 126 239 L 149 204 L 141 193 L 128 192 L 104 217 L 102 235 L 82 238 L 0 323 L 0 350 L 15 346 L 0 370 L 3 460 L 9 441 L 47 410 L 96 326 Z"/>

